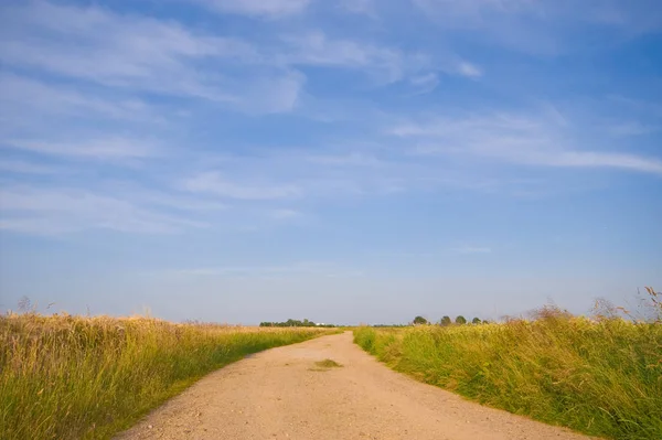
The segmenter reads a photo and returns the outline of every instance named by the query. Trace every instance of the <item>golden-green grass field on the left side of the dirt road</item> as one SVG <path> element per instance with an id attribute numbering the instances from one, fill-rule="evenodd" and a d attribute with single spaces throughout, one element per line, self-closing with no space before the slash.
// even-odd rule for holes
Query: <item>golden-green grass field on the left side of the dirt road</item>
<path id="1" fill-rule="evenodd" d="M 328 332 L 0 316 L 0 439 L 109 438 L 223 365 Z"/>

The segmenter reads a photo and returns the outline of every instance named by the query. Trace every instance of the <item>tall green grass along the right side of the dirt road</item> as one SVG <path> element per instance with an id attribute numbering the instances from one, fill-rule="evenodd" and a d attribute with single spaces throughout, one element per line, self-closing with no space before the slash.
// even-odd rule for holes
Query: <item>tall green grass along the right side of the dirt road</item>
<path id="1" fill-rule="evenodd" d="M 611 439 L 662 439 L 662 324 L 547 314 L 503 324 L 360 328 L 391 367 L 482 404 Z"/>

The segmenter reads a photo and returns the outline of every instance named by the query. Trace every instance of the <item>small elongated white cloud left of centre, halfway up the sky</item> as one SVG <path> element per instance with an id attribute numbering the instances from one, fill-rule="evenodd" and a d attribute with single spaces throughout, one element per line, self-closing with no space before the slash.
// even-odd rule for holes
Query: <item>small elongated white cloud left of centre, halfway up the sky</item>
<path id="1" fill-rule="evenodd" d="M 210 193 L 237 200 L 276 200 L 298 197 L 302 194 L 296 185 L 265 183 L 237 183 L 218 172 L 204 172 L 183 182 L 182 187 L 191 192 Z"/>

